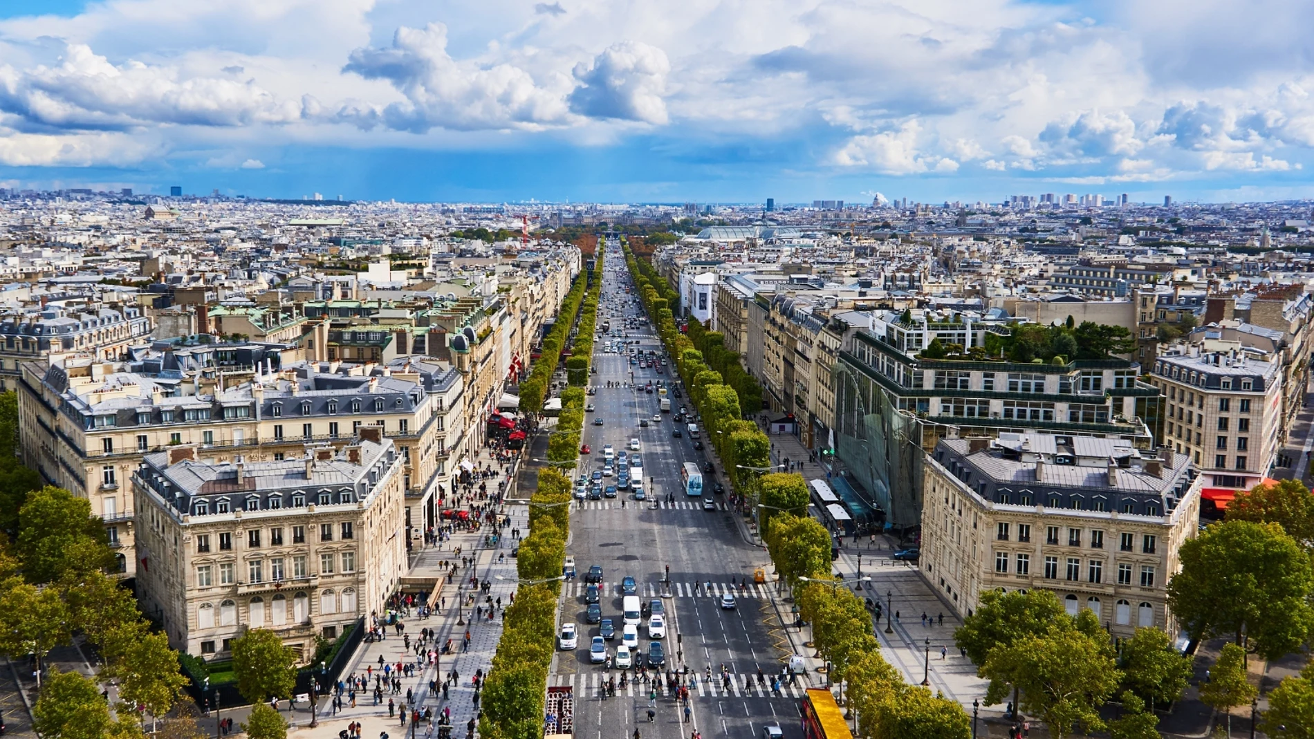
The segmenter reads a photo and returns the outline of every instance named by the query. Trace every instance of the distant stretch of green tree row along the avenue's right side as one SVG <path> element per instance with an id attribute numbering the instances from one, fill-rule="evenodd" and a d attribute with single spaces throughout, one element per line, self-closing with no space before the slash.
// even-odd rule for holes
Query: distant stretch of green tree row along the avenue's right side
<path id="1" fill-rule="evenodd" d="M 625 264 L 629 266 L 639 299 L 648 310 L 648 315 L 653 318 L 666 350 L 675 360 L 675 370 L 685 381 L 685 387 L 689 389 L 689 399 L 702 417 L 707 440 L 725 465 L 731 484 L 738 495 L 756 499 L 758 478 L 770 465 L 770 440 L 757 428 L 757 424 L 744 420 L 744 406 L 740 403 L 738 390 L 724 382 L 724 375 L 704 361 L 703 352 L 694 345 L 692 339 L 681 333 L 675 326 L 671 306 L 679 305 L 679 295 L 670 289 L 666 280 L 657 274 L 648 261 L 636 259 L 628 245 L 625 245 Z M 691 320 L 689 326 L 689 331 L 700 336 L 704 345 L 710 348 L 720 347 L 724 341 L 724 339 L 717 339 L 721 336 L 720 333 L 698 333 L 702 326 L 696 320 Z M 738 373 L 752 379 L 738 369 L 737 354 L 716 352 L 716 361 L 725 366 L 727 371 L 733 373 L 736 370 L 728 369 L 727 364 L 731 360 L 733 360 L 733 366 Z M 756 381 L 752 387 L 757 387 L 757 390 L 750 402 L 757 404 L 748 407 L 756 411 L 761 408 L 762 395 Z M 750 392 L 752 387 L 749 387 Z"/>

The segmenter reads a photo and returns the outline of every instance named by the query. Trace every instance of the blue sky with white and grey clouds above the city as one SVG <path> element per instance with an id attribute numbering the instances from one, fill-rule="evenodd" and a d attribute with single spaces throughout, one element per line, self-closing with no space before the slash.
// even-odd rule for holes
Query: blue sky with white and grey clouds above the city
<path id="1" fill-rule="evenodd" d="M 0 0 L 0 186 L 1314 197 L 1302 0 Z"/>

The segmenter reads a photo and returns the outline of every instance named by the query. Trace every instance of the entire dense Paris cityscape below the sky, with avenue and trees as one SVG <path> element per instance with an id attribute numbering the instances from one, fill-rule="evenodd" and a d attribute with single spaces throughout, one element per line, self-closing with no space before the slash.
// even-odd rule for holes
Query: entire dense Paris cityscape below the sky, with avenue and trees
<path id="1" fill-rule="evenodd" d="M 1314 201 L 0 193 L 9 734 L 1314 731 Z"/>

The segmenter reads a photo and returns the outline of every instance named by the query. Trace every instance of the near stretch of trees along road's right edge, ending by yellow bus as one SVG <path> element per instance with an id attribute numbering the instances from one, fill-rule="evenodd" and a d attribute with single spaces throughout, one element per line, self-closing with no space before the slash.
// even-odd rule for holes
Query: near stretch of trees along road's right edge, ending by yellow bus
<path id="1" fill-rule="evenodd" d="M 807 515 L 808 488 L 799 474 L 761 479 L 766 547 L 777 575 L 790 585 L 812 644 L 829 677 L 848 694 L 858 732 L 871 739 L 967 739 L 971 719 L 955 701 L 908 685 L 880 656 L 862 600 L 830 574 L 830 532 Z M 770 501 L 770 503 L 767 503 Z"/>

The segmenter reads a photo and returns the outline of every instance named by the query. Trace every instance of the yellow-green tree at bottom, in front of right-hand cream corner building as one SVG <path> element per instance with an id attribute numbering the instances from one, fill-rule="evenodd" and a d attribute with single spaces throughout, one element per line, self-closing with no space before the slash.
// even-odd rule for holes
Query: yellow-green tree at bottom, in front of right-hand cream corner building
<path id="1" fill-rule="evenodd" d="M 989 679 L 986 705 L 1003 702 L 1009 688 L 1018 706 L 1045 721 L 1055 739 L 1077 726 L 1087 732 L 1104 727 L 1099 707 L 1113 694 L 1121 675 L 1108 643 L 1100 643 L 1059 620 L 1043 635 L 1028 635 L 991 651 L 982 667 Z"/>

